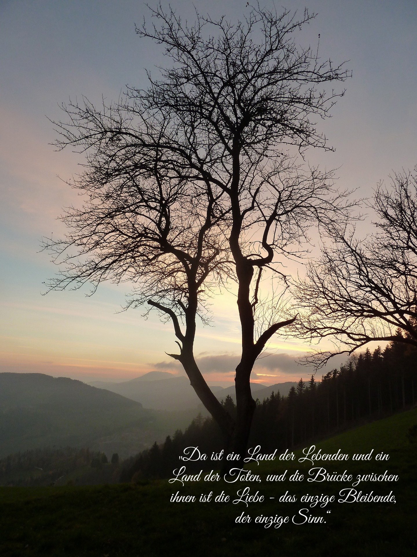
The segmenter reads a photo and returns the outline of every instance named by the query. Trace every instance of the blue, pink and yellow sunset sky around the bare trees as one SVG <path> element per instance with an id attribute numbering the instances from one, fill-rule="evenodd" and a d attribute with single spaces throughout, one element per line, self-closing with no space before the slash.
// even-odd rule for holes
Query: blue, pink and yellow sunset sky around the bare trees
<path id="1" fill-rule="evenodd" d="M 150 5 L 156 3 L 150 0 Z M 231 20 L 246 2 L 171 2 L 178 14 Z M 265 0 L 261 6 L 272 7 Z M 165 5 L 165 4 L 163 4 Z M 415 0 L 289 0 L 291 10 L 316 12 L 301 44 L 346 67 L 346 94 L 320 122 L 335 152 L 307 158 L 337 168 L 338 184 L 371 197 L 379 180 L 417 163 L 417 2 Z M 280 10 L 280 4 L 276 3 Z M 145 69 L 163 65 L 158 45 L 139 38 L 135 23 L 149 19 L 145 3 L 118 0 L 0 0 L 0 371 L 38 372 L 83 380 L 124 380 L 155 369 L 181 373 L 169 324 L 140 310 L 121 312 L 128 284 L 45 293 L 56 268 L 40 252 L 42 236 L 59 237 L 62 208 L 78 202 L 64 180 L 81 155 L 57 153 L 48 120 L 59 104 L 86 96 L 117 99 L 126 85 L 146 86 Z M 154 70 L 156 71 L 156 70 Z M 369 219 L 359 232 L 370 230 Z M 198 327 L 196 354 L 210 384 L 230 383 L 240 348 L 236 299 L 213 299 L 212 326 Z M 254 379 L 272 384 L 306 375 L 294 361 L 311 348 L 275 335 Z"/>

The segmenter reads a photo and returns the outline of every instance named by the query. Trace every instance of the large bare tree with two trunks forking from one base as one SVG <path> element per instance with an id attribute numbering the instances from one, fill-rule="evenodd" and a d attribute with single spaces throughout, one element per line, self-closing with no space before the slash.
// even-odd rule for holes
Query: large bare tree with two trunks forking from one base
<path id="1" fill-rule="evenodd" d="M 180 353 L 171 356 L 227 448 L 244 453 L 255 409 L 252 367 L 271 336 L 296 319 L 285 304 L 282 263 L 305 253 L 312 225 L 329 227 L 348 209 L 331 172 L 302 168 L 284 148 L 328 149 L 313 120 L 329 116 L 343 91 L 317 87 L 348 74 L 320 62 L 318 48 L 296 46 L 294 33 L 315 17 L 307 11 L 296 19 L 251 8 L 236 25 L 196 13 L 192 26 L 171 9 L 151 12 L 155 25 L 136 31 L 163 45 L 173 65 L 111 106 L 70 102 L 69 120 L 56 123 L 59 148 L 87 152 L 74 184 L 87 202 L 64 216 L 73 231 L 67 240 L 47 247 L 57 255 L 75 247 L 86 259 L 72 263 L 71 254 L 51 286 L 136 282 L 131 305 L 146 301 L 172 320 Z M 235 422 L 193 356 L 196 316 L 231 280 L 242 330 Z"/>

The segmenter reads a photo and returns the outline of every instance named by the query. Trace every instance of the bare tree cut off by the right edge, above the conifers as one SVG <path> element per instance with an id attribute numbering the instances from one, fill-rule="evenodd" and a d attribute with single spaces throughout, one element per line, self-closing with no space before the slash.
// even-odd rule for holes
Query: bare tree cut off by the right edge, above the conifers
<path id="1" fill-rule="evenodd" d="M 339 353 L 373 340 L 417 345 L 417 168 L 390 180 L 388 188 L 379 184 L 371 206 L 375 233 L 358 240 L 354 230 L 335 228 L 298 285 L 299 331 L 334 339 Z"/>

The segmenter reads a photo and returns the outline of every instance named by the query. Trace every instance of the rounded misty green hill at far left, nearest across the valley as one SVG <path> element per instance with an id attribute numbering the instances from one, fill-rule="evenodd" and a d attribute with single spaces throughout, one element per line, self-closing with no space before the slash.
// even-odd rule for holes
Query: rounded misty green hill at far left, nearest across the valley
<path id="1" fill-rule="evenodd" d="M 127 427 L 143 435 L 150 429 L 155 437 L 154 424 L 155 412 L 140 403 L 81 381 L 0 373 L 0 456 L 54 445 L 92 446 Z"/>

